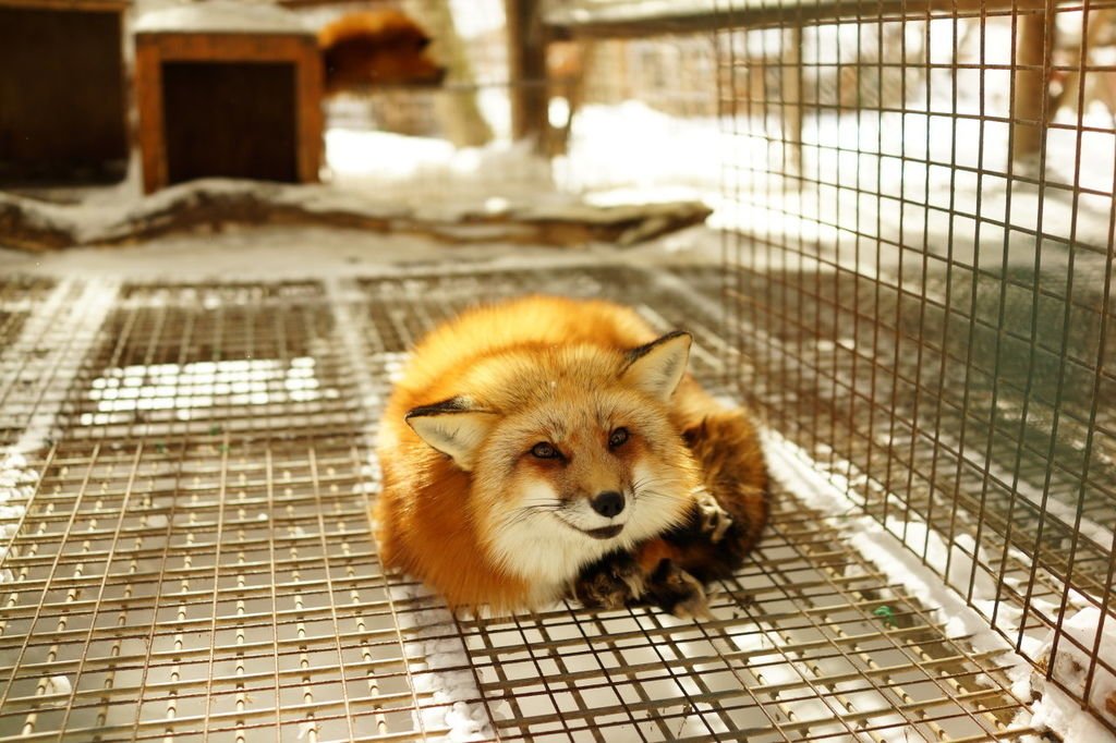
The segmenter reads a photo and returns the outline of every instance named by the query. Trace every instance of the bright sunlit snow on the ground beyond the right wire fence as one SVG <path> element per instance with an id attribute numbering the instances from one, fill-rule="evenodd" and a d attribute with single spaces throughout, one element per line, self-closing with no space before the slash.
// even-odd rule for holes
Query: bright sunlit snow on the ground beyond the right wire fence
<path id="1" fill-rule="evenodd" d="M 934 29 L 941 32 L 940 25 Z M 555 182 L 590 203 L 700 199 L 714 209 L 712 226 L 824 249 L 879 238 L 885 244 L 940 247 L 942 254 L 950 244 L 956 261 L 1000 264 L 1010 243 L 1010 263 L 1029 267 L 1036 240 L 1027 231 L 1041 230 L 1055 238 L 1042 254 L 1043 266 L 1052 268 L 1065 261 L 1064 241 L 1072 230 L 1079 248 L 1103 250 L 1112 200 L 1065 194 L 1072 184 L 1112 192 L 1116 136 L 1107 112 L 1087 112 L 1079 138 L 1068 128 L 1050 129 L 1040 190 L 991 174 L 1009 172 L 1007 125 L 954 118 L 951 88 L 937 85 L 933 95 L 923 110 L 912 106 L 903 114 L 807 114 L 805 183 L 779 175 L 782 133 L 768 118 L 683 119 L 638 102 L 587 105 L 575 119 L 570 154 L 555 162 Z M 1006 102 L 990 102 L 985 115 Z M 975 106 L 960 91 L 959 112 Z M 1059 116 L 1059 124 L 1076 126 L 1076 114 Z M 1088 156 L 1076 167 L 1079 145 Z M 1037 177 L 1037 163 L 1013 166 L 1017 175 Z M 863 252 L 873 262 L 857 268 L 868 273 L 899 257 L 895 250 Z M 1101 259 L 1077 254 L 1078 261 Z"/>

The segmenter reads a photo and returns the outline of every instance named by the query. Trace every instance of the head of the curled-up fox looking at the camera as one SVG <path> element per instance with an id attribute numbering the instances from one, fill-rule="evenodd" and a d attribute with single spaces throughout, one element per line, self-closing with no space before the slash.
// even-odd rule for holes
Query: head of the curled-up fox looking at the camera
<path id="1" fill-rule="evenodd" d="M 683 520 L 696 467 L 671 421 L 691 337 L 628 350 L 513 349 L 464 370 L 462 394 L 412 409 L 423 442 L 469 473 L 463 504 L 490 559 L 559 583 Z"/>

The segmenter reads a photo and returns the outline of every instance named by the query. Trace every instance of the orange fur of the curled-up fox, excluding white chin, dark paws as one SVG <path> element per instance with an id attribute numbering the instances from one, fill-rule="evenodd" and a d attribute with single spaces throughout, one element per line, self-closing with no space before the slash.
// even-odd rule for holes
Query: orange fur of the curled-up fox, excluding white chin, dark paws
<path id="1" fill-rule="evenodd" d="M 531 608 L 558 596 L 540 594 L 530 579 L 518 575 L 518 557 L 508 560 L 498 553 L 493 524 L 517 506 L 516 493 L 542 488 L 571 503 L 643 481 L 653 483 L 655 492 L 631 501 L 619 537 L 598 546 L 569 530 L 575 540 L 570 549 L 584 547 L 587 556 L 596 552 L 573 566 L 568 581 L 607 549 L 642 551 L 648 572 L 663 557 L 682 560 L 684 568 L 700 561 L 701 550 L 667 546 L 655 535 L 686 521 L 703 480 L 706 488 L 721 486 L 719 479 L 743 472 L 740 461 L 702 433 L 712 431 L 710 422 L 721 413 L 730 421 L 743 418 L 716 405 L 689 375 L 681 383 L 674 377 L 663 397 L 637 384 L 644 373 L 637 367 L 658 364 L 642 360 L 653 356 L 645 349 L 666 348 L 674 344 L 671 338 L 656 341 L 656 334 L 629 309 L 551 297 L 474 309 L 432 331 L 414 349 L 381 424 L 383 491 L 374 519 L 384 563 L 421 578 L 452 607 L 487 605 L 498 612 Z M 689 348 L 687 337 L 685 342 Z M 456 402 L 437 406 L 443 401 Z M 448 425 L 483 419 L 478 430 L 485 437 L 478 440 L 482 443 L 475 455 L 453 451 L 453 445 L 443 447 L 443 454 L 416 433 L 414 416 L 422 418 L 434 408 L 434 418 Z M 629 428 L 632 435 L 613 450 L 606 442 L 616 426 Z M 689 446 L 684 432 L 694 436 Z M 435 428 L 435 435 L 441 433 Z M 740 441 L 748 436 L 754 438 L 750 425 L 738 426 L 729 443 L 745 444 L 758 467 L 747 484 L 757 485 L 759 492 L 766 485 L 762 455 L 754 441 Z M 536 441 L 554 442 L 568 457 L 561 462 L 533 457 Z M 715 452 L 713 461 L 721 464 L 704 471 L 691 447 Z M 735 521 L 745 513 L 752 517 L 743 530 L 748 546 L 766 515 L 753 501 L 747 508 L 737 503 L 725 508 Z M 636 521 L 637 517 L 646 521 Z M 551 523 L 556 522 L 545 521 Z M 638 531 L 650 523 L 658 524 L 653 532 Z M 545 562 L 548 556 L 542 552 L 548 549 L 555 550 L 555 560 L 571 559 L 542 533 L 537 543 L 528 540 L 522 549 L 523 561 Z"/>

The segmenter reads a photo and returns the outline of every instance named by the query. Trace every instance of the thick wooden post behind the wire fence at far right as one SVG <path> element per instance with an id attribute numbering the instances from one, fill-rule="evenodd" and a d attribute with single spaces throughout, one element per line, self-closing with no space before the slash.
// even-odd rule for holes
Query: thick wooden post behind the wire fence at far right
<path id="1" fill-rule="evenodd" d="M 1050 9 L 1052 10 L 1052 9 Z M 1011 160 L 1037 155 L 1046 134 L 1046 97 L 1050 50 L 1054 45 L 1054 13 L 1019 16 L 1016 31 L 1016 80 L 1011 106 Z M 1031 69 L 1018 69 L 1029 67 Z"/>

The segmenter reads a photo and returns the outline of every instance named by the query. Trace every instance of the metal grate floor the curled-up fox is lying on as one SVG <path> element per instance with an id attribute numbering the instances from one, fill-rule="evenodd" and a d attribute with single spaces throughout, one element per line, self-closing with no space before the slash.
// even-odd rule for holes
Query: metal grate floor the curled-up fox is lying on
<path id="1" fill-rule="evenodd" d="M 608 296 L 693 330 L 723 392 L 722 283 L 0 283 L 0 741 L 1018 737 L 1002 659 L 790 492 L 702 624 L 462 620 L 384 575 L 369 443 L 417 335 L 480 296 Z"/>

